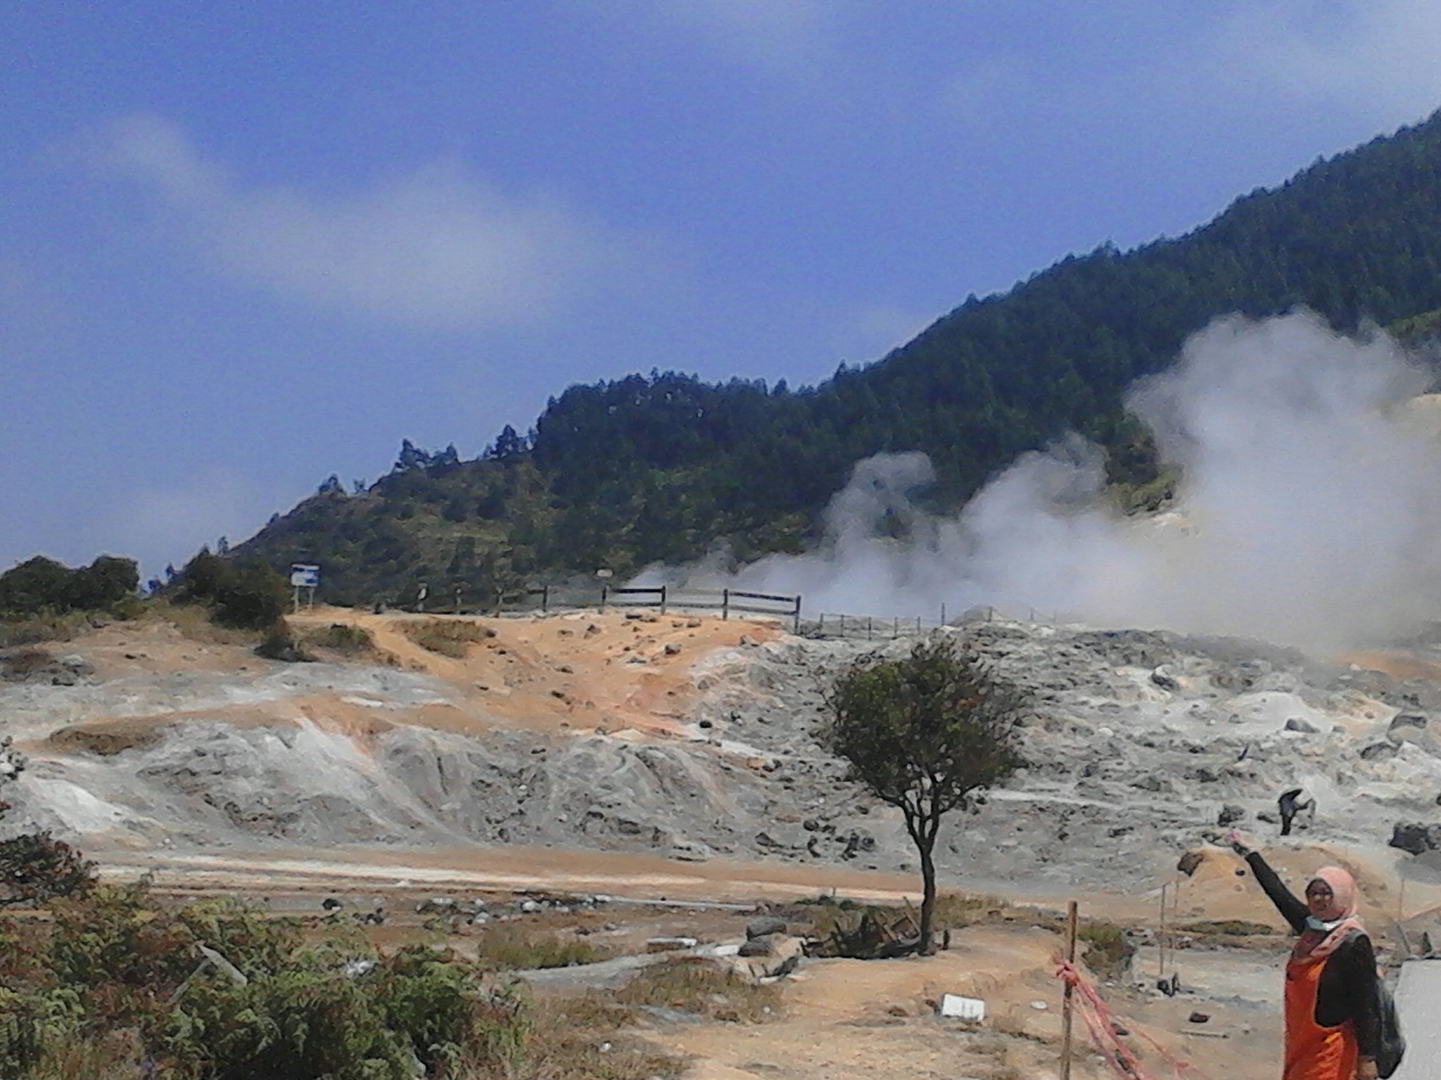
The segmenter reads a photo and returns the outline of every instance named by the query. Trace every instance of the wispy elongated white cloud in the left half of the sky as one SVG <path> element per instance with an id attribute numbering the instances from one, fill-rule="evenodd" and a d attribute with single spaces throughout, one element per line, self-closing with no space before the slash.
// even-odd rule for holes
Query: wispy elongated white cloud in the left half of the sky
<path id="1" fill-rule="evenodd" d="M 112 124 L 102 160 L 157 194 L 219 269 L 409 325 L 532 323 L 576 300 L 643 291 L 663 262 L 653 242 L 555 192 L 504 192 L 457 163 L 343 194 L 246 187 L 154 115 Z"/>

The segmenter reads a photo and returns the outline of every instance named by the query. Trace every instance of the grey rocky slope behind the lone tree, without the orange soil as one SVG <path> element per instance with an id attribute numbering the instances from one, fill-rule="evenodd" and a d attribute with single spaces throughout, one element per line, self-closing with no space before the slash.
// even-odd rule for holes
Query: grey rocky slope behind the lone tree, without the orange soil
<path id="1" fill-rule="evenodd" d="M 945 880 L 1151 883 L 1225 824 L 1274 837 L 1267 816 L 1291 786 L 1317 799 L 1301 824 L 1311 842 L 1411 860 L 1386 850 L 1393 827 L 1438 819 L 1441 685 L 1428 678 L 1169 632 L 1009 619 L 940 632 L 971 638 L 1033 700 L 1030 765 L 948 821 Z M 872 648 L 782 635 L 692 658 L 679 737 L 442 730 L 416 710 L 474 710 L 454 684 L 357 662 L 122 675 L 68 662 L 66 678 L 0 683 L 0 733 L 30 759 L 4 825 L 99 855 L 478 842 L 911 870 L 898 814 L 847 783 L 814 733 L 827 680 Z M 1417 664 L 1431 649 L 1408 648 Z M 327 701 L 378 723 L 327 724 Z M 238 723 L 236 708 L 265 720 Z M 144 724 L 112 743 L 65 737 L 98 716 Z M 1431 873 L 1425 858 L 1415 873 Z"/>

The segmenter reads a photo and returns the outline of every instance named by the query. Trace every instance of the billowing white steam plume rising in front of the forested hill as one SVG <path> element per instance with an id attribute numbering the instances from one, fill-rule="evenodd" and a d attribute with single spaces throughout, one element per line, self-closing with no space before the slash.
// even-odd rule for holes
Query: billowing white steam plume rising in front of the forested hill
<path id="1" fill-rule="evenodd" d="M 808 613 L 994 605 L 1316 649 L 1380 641 L 1441 618 L 1441 438 L 1434 399 L 1417 399 L 1425 384 L 1380 331 L 1342 337 L 1308 312 L 1218 320 L 1130 396 L 1183 469 L 1167 514 L 1120 514 L 1102 452 L 1074 436 L 941 520 L 912 500 L 929 461 L 882 454 L 831 501 L 818 552 L 644 580 L 798 592 Z M 889 539 L 896 526 L 905 539 Z"/>

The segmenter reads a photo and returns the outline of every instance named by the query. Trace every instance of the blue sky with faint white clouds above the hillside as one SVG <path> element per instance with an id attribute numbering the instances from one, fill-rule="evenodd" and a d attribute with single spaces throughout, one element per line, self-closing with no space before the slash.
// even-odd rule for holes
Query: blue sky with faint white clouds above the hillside
<path id="1" fill-rule="evenodd" d="M 1434 0 L 12 0 L 0 567 L 829 376 L 1441 107 Z"/>

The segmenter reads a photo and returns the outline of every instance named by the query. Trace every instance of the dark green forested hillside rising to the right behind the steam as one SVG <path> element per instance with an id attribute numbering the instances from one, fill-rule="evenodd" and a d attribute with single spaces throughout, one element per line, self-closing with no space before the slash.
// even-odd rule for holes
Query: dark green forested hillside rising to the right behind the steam
<path id="1" fill-rule="evenodd" d="M 1441 112 L 1238 199 L 1209 225 L 1131 252 L 1069 256 L 1004 295 L 968 298 L 919 337 L 817 387 L 679 373 L 572 386 L 527 436 L 476 461 L 409 444 L 367 490 L 339 481 L 242 546 L 326 566 L 331 599 L 440 595 L 607 566 L 795 550 L 852 465 L 924 451 L 937 507 L 1016 454 L 1079 431 L 1117 480 L 1153 468 L 1120 403 L 1138 376 L 1226 312 L 1308 305 L 1434 334 L 1441 308 Z"/>

